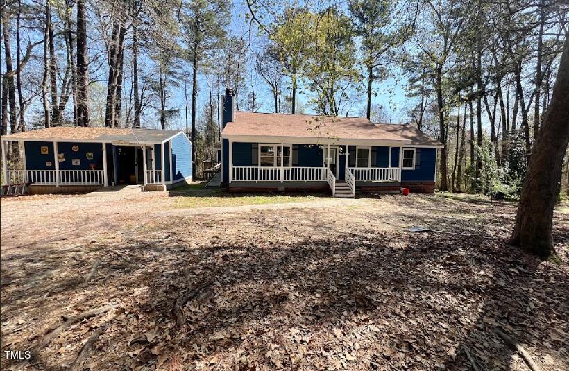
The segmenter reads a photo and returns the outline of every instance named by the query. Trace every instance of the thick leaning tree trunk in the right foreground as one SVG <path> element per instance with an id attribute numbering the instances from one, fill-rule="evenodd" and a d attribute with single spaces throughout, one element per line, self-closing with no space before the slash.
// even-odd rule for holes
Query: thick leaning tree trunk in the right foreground
<path id="1" fill-rule="evenodd" d="M 557 184 L 569 142 L 569 33 L 543 128 L 529 159 L 510 243 L 542 259 L 554 253 L 552 223 Z"/>

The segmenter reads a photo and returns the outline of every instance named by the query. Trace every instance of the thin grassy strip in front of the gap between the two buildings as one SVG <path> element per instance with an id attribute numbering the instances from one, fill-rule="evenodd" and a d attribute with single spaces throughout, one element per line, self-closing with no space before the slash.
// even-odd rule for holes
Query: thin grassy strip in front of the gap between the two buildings
<path id="1" fill-rule="evenodd" d="M 331 200 L 328 196 L 313 195 L 232 195 L 229 193 L 212 192 L 201 196 L 182 196 L 174 202 L 174 207 L 187 209 L 194 207 L 225 207 L 246 205 L 269 205 L 285 203 L 302 203 L 317 200 Z"/>

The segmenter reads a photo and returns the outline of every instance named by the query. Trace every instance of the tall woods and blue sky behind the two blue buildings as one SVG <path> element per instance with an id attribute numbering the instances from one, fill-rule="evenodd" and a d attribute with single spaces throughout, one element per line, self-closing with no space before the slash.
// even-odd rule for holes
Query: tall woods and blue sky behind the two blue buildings
<path id="1" fill-rule="evenodd" d="M 198 178 L 231 87 L 238 110 L 397 117 L 445 144 L 439 189 L 516 199 L 568 15 L 554 0 L 3 1 L 1 134 L 182 129 Z"/>

